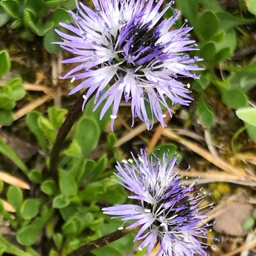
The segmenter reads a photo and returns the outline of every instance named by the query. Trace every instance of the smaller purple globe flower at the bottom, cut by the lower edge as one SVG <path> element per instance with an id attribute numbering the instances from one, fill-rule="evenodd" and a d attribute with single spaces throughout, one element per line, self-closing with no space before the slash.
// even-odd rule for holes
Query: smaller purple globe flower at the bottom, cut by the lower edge
<path id="1" fill-rule="evenodd" d="M 186 186 L 175 172 L 177 156 L 172 159 L 163 155 L 148 156 L 141 149 L 137 160 L 117 163 L 115 174 L 123 187 L 130 190 L 134 204 L 115 205 L 103 208 L 104 214 L 121 217 L 122 221 L 135 221 L 126 227 L 138 227 L 135 240 L 143 239 L 139 250 L 148 246 L 147 255 L 160 243 L 157 256 L 207 256 L 207 244 L 199 241 L 207 237 L 212 224 L 203 222 L 204 213 L 211 206 L 200 207 L 206 196 L 193 186 Z M 114 217 L 114 218 L 116 218 Z"/>

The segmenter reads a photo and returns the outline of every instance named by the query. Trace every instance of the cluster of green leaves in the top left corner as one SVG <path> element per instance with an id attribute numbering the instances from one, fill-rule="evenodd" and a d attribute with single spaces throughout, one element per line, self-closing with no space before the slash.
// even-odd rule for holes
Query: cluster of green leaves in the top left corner
<path id="1" fill-rule="evenodd" d="M 74 0 L 1 0 L 0 27 L 10 22 L 12 29 L 19 29 L 23 40 L 43 36 L 46 50 L 57 53 L 61 47 L 52 42 L 60 41 L 60 37 L 54 29 L 60 28 L 60 22 L 71 20 L 67 10 L 74 8 Z"/>

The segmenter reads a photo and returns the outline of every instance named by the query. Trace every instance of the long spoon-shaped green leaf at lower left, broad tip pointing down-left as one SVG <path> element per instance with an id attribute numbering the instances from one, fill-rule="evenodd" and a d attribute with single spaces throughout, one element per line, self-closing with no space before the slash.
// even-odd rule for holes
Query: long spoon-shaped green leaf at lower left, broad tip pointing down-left
<path id="1" fill-rule="evenodd" d="M 22 245 L 30 246 L 34 244 L 40 233 L 40 230 L 53 215 L 53 209 L 47 209 L 45 206 L 42 211 L 42 216 L 38 217 L 34 222 L 31 222 L 27 226 L 21 228 L 17 232 L 17 241 Z"/>

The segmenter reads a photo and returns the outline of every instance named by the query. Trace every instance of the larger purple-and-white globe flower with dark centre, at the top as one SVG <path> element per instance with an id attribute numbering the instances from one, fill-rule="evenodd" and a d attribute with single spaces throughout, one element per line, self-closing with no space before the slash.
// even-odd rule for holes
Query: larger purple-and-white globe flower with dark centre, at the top
<path id="1" fill-rule="evenodd" d="M 195 41 L 189 39 L 192 27 L 185 23 L 172 29 L 179 13 L 162 19 L 174 1 L 160 10 L 163 2 L 93 0 L 94 10 L 77 2 L 77 12 L 69 11 L 74 23 L 60 23 L 71 33 L 56 31 L 63 39 L 57 44 L 77 55 L 63 61 L 78 63 L 63 78 L 82 79 L 69 94 L 88 88 L 84 105 L 95 93 L 94 110 L 106 100 L 101 119 L 113 105 L 112 130 L 122 97 L 131 102 L 133 124 L 134 118 L 139 117 L 148 129 L 152 128 L 149 121 L 154 117 L 165 125 L 162 107 L 168 109 L 169 115 L 172 112 L 168 99 L 172 105 L 186 106 L 192 100 L 188 87 L 177 78 L 199 78 L 194 71 L 202 68 L 195 62 L 202 59 L 184 54 L 197 50 Z"/>

